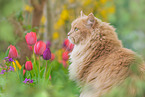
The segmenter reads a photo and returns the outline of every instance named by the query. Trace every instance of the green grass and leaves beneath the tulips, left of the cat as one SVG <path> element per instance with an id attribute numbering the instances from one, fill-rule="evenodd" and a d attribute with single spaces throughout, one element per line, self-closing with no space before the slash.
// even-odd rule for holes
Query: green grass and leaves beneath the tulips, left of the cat
<path id="1" fill-rule="evenodd" d="M 6 52 L 7 54 L 7 52 Z M 68 70 L 58 61 L 46 61 L 33 54 L 33 69 L 26 71 L 24 66 L 16 71 L 0 74 L 0 95 L 2 97 L 78 97 L 79 88 L 69 80 Z M 12 66 L 11 62 L 7 65 Z M 0 70 L 1 71 L 1 70 Z M 51 75 L 51 78 L 49 77 Z M 25 78 L 33 83 L 23 83 Z"/>

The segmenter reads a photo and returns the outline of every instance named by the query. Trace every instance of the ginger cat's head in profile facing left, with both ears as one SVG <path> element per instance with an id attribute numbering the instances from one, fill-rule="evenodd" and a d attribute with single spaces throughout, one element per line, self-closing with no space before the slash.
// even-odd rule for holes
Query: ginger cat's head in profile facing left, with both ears
<path id="1" fill-rule="evenodd" d="M 81 16 L 74 20 L 71 24 L 71 30 L 68 33 L 68 39 L 73 44 L 79 44 L 87 39 L 91 34 L 91 29 L 97 24 L 97 20 L 93 13 L 88 16 L 84 15 L 81 11 Z"/>

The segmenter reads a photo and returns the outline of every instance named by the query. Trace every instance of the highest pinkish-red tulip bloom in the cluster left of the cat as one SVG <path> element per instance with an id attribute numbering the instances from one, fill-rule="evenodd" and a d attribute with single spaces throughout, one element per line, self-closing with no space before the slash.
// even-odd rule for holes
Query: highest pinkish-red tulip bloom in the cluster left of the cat
<path id="1" fill-rule="evenodd" d="M 35 32 L 27 33 L 25 36 L 28 45 L 34 45 L 37 42 L 37 37 Z"/>

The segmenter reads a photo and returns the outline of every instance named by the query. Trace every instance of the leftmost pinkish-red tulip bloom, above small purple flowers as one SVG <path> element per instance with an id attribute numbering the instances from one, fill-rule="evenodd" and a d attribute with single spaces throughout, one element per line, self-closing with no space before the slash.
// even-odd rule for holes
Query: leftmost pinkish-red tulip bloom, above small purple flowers
<path id="1" fill-rule="evenodd" d="M 18 52 L 17 52 L 17 49 L 15 48 L 15 46 L 10 45 L 8 47 L 8 49 L 10 49 L 8 58 L 17 58 L 18 57 Z"/>

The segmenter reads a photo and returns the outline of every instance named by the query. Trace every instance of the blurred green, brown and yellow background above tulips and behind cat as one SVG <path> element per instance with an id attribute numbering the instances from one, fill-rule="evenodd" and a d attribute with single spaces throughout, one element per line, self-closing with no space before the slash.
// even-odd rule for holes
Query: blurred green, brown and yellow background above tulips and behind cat
<path id="1" fill-rule="evenodd" d="M 30 31 L 50 41 L 54 51 L 61 49 L 71 22 L 82 10 L 111 23 L 123 45 L 145 57 L 144 4 L 145 0 L 0 0 L 0 53 L 9 44 L 24 48 L 24 36 Z"/>

